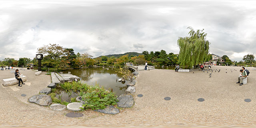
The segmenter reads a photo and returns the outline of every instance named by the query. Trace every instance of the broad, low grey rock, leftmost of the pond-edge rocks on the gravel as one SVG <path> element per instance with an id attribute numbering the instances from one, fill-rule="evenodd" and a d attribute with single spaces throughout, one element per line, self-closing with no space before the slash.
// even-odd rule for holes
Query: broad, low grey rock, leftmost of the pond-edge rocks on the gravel
<path id="1" fill-rule="evenodd" d="M 52 98 L 46 94 L 40 94 L 28 98 L 28 102 L 36 103 L 41 106 L 49 106 L 52 103 Z"/>

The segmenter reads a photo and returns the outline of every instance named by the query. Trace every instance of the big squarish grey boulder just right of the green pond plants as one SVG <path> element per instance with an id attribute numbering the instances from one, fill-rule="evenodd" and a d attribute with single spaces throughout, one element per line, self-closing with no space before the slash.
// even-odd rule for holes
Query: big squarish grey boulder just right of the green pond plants
<path id="1" fill-rule="evenodd" d="M 122 94 L 117 99 L 119 100 L 117 105 L 120 108 L 130 108 L 134 104 L 134 99 L 131 95 Z"/>

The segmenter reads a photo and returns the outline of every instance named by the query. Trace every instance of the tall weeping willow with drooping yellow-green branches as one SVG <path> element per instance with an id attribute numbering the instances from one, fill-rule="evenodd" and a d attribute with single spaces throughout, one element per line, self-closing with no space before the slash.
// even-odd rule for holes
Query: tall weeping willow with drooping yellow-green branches
<path id="1" fill-rule="evenodd" d="M 178 63 L 182 68 L 192 68 L 196 64 L 203 63 L 209 60 L 209 44 L 206 40 L 206 33 L 203 30 L 194 31 L 193 28 L 188 27 L 189 37 L 179 37 L 178 46 L 180 48 Z"/>

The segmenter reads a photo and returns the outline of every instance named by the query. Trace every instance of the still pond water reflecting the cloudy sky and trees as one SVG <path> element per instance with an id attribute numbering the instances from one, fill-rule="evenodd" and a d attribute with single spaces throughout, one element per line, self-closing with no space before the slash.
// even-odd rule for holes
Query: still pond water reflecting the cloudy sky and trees
<path id="1" fill-rule="evenodd" d="M 122 77 L 122 74 L 116 72 L 118 68 L 85 68 L 85 69 L 72 69 L 65 70 L 63 73 L 71 72 L 71 74 L 80 77 L 82 83 L 94 86 L 96 83 L 103 86 L 105 89 L 113 90 L 117 96 L 125 93 L 126 82 L 119 82 L 118 78 Z"/>

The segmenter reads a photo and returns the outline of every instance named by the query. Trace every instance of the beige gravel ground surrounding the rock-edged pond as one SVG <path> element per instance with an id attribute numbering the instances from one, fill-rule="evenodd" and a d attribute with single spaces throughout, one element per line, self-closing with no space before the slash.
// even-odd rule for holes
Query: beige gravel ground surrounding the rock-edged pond
<path id="1" fill-rule="evenodd" d="M 83 117 L 68 118 L 68 110 L 56 112 L 50 107 L 28 102 L 50 84 L 43 72 L 20 71 L 30 86 L 2 86 L 2 79 L 14 77 L 0 70 L 0 127 L 250 127 L 256 126 L 256 70 L 250 70 L 248 83 L 236 84 L 240 67 L 212 66 L 220 72 L 174 72 L 174 70 L 139 71 L 132 108 L 108 115 L 87 110 Z M 226 70 L 227 69 L 227 70 Z M 236 69 L 237 71 L 235 71 Z M 232 72 L 231 72 L 232 70 Z M 227 72 L 227 73 L 226 73 Z M 22 97 L 21 94 L 26 94 Z M 143 97 L 137 97 L 143 94 Z M 171 100 L 164 100 L 165 97 Z M 204 98 L 204 102 L 198 102 Z M 250 98 L 251 102 L 244 102 Z"/>

